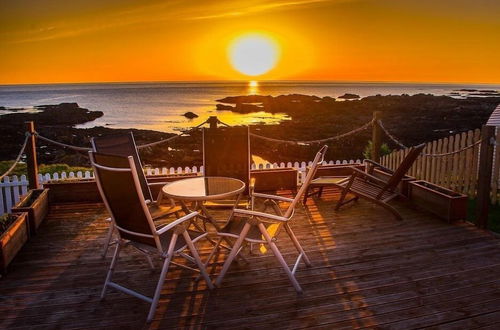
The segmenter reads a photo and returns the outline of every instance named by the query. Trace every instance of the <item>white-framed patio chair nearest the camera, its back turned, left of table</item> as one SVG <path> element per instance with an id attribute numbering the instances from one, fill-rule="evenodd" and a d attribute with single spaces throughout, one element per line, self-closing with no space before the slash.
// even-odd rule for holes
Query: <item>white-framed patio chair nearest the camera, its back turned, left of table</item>
<path id="1" fill-rule="evenodd" d="M 151 304 L 147 317 L 147 321 L 151 321 L 170 264 L 200 272 L 201 276 L 207 281 L 208 287 L 212 289 L 213 285 L 205 270 L 205 265 L 194 246 L 207 233 L 193 232 L 187 229 L 191 219 L 196 217 L 198 213 L 190 213 L 169 224 L 157 227 L 146 205 L 133 157 L 94 152 L 89 154 L 99 192 L 118 232 L 116 250 L 104 282 L 101 299 L 104 299 L 108 287 L 142 299 Z M 163 259 L 163 267 L 152 298 L 112 281 L 120 252 L 125 246 L 134 247 L 147 255 L 148 260 L 150 260 L 151 256 Z M 188 255 L 187 251 L 191 255 Z M 194 263 L 198 269 L 173 262 L 172 258 L 174 256 L 186 258 L 189 262 Z"/>

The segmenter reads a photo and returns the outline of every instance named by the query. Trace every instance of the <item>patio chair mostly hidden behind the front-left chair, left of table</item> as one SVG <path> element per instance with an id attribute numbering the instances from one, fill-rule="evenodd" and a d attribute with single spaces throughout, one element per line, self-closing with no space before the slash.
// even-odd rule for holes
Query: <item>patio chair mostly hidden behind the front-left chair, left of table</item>
<path id="1" fill-rule="evenodd" d="M 90 139 L 92 144 L 92 149 L 95 152 L 117 155 L 117 156 L 132 156 L 135 164 L 135 168 L 137 170 L 137 175 L 139 178 L 139 183 L 141 186 L 142 194 L 148 204 L 148 208 L 153 216 L 154 220 L 161 220 L 165 216 L 169 216 L 171 214 L 175 214 L 179 217 L 179 213 L 181 211 L 181 207 L 176 206 L 173 201 L 170 201 L 170 205 L 162 204 L 162 194 L 161 189 L 160 193 L 156 199 L 153 198 L 151 193 L 151 186 L 164 186 L 166 182 L 155 182 L 148 183 L 146 180 L 146 176 L 144 175 L 144 171 L 142 170 L 142 163 L 139 157 L 139 153 L 137 152 L 137 146 L 135 144 L 134 135 L 132 132 L 125 134 L 114 134 L 100 137 L 93 137 Z M 110 219 L 108 219 L 109 221 Z M 114 228 L 111 225 L 109 227 L 108 233 L 106 235 L 106 240 L 104 243 L 104 249 L 102 253 L 102 257 L 105 257 L 108 248 L 113 244 L 111 242 L 111 238 L 113 237 Z"/>

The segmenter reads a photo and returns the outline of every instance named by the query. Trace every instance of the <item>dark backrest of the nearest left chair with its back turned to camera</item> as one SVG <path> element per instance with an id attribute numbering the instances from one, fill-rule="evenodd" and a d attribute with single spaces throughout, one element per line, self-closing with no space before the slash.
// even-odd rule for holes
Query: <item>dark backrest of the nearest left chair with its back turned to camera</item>
<path id="1" fill-rule="evenodd" d="M 120 237 L 157 247 L 161 244 L 142 193 L 132 156 L 89 152 L 101 197 Z"/>

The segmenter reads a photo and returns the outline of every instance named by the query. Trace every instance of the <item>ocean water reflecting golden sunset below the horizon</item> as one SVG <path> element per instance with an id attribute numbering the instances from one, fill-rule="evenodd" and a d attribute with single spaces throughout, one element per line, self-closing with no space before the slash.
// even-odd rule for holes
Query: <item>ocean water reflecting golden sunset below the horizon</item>
<path id="1" fill-rule="evenodd" d="M 268 123 L 289 119 L 285 114 L 258 112 L 235 114 L 217 111 L 216 100 L 225 96 L 260 94 L 307 94 L 338 97 L 354 93 L 370 95 L 401 95 L 430 93 L 450 95 L 460 89 L 499 90 L 500 85 L 399 84 L 399 83 L 328 83 L 328 82 L 182 82 L 182 83 L 101 83 L 52 85 L 2 85 L 0 106 L 26 108 L 42 104 L 77 102 L 81 107 L 100 110 L 104 116 L 78 127 L 108 126 L 110 128 L 141 128 L 175 132 L 195 126 L 209 116 L 217 115 L 230 125 Z M 454 95 L 463 97 L 465 93 Z M 187 119 L 184 113 L 199 115 Z M 0 111 L 0 114 L 7 111 Z"/>

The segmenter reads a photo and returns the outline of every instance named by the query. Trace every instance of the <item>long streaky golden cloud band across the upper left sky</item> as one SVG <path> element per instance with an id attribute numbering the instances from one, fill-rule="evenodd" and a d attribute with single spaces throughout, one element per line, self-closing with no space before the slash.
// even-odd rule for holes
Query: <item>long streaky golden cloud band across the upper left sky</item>
<path id="1" fill-rule="evenodd" d="M 213 0 L 195 3 L 190 1 L 158 0 L 126 7 L 121 10 L 115 8 L 100 11 L 98 14 L 94 12 L 90 16 L 69 15 L 66 12 L 61 17 L 55 17 L 51 21 L 38 23 L 46 24 L 45 27 L 18 27 L 11 31 L 3 31 L 0 33 L 0 42 L 8 44 L 41 42 L 71 38 L 125 26 L 143 28 L 147 25 L 166 22 L 231 18 L 259 12 L 346 1 L 359 0 Z"/>

